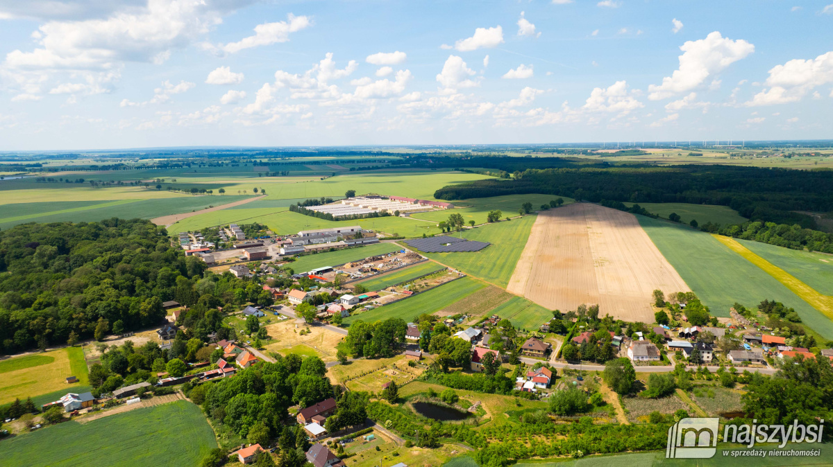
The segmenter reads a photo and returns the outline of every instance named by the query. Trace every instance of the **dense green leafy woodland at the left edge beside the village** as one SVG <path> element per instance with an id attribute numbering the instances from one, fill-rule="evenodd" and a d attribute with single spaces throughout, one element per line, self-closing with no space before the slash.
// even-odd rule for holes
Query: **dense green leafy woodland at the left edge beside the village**
<path id="1" fill-rule="evenodd" d="M 147 220 L 22 224 L 0 232 L 0 352 L 92 337 L 100 318 L 107 323 L 102 332 L 162 322 L 162 302 L 190 295 L 182 291 L 193 290 L 189 279 L 205 268 Z"/>

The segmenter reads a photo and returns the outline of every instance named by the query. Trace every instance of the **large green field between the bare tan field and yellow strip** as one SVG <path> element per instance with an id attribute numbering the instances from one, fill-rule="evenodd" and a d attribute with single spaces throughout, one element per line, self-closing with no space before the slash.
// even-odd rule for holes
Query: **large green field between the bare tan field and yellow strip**
<path id="1" fill-rule="evenodd" d="M 811 329 L 833 338 L 830 319 L 710 234 L 645 216 L 637 215 L 636 219 L 712 315 L 728 317 L 734 302 L 756 307 L 764 299 L 775 299 L 796 308 Z"/>

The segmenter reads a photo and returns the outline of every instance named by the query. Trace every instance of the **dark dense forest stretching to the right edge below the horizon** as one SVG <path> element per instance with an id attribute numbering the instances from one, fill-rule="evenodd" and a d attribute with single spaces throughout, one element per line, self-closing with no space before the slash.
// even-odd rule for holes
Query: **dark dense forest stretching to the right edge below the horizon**
<path id="1" fill-rule="evenodd" d="M 495 169 L 511 171 L 526 159 Z M 543 158 L 542 158 L 543 159 Z M 558 158 L 551 158 L 558 159 Z M 484 161 L 479 161 L 484 167 Z M 798 224 L 816 221 L 794 211 L 833 211 L 833 170 L 761 169 L 728 165 L 527 169 L 511 180 L 484 179 L 436 190 L 437 199 L 469 199 L 503 194 L 554 194 L 592 202 L 718 204 L 753 221 Z"/>

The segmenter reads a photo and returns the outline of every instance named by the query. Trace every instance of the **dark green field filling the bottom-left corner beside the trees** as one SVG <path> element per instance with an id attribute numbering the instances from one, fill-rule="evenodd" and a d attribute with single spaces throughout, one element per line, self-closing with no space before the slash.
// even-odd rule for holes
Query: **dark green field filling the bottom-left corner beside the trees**
<path id="1" fill-rule="evenodd" d="M 131 410 L 87 424 L 67 421 L 2 442 L 0 465 L 199 465 L 217 447 L 191 402 Z"/>

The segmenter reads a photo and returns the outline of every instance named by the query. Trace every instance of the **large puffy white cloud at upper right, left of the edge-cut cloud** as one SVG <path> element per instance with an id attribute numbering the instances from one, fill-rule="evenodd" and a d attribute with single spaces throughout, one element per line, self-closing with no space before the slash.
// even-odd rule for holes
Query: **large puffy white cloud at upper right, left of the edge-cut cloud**
<path id="1" fill-rule="evenodd" d="M 711 32 L 705 39 L 686 41 L 680 50 L 683 52 L 679 57 L 680 67 L 671 76 L 662 78 L 661 85 L 648 86 L 648 98 L 652 101 L 691 91 L 709 76 L 755 52 L 755 46 L 743 39 L 733 41 L 722 37 L 720 32 Z"/>

